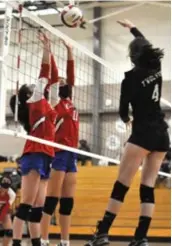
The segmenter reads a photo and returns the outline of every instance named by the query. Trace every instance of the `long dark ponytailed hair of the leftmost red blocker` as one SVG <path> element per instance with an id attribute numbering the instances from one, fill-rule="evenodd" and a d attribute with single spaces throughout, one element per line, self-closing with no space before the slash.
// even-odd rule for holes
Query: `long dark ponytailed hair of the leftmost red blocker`
<path id="1" fill-rule="evenodd" d="M 27 100 L 30 98 L 31 95 L 32 91 L 26 84 L 20 88 L 18 93 L 18 120 L 27 133 L 30 132 L 29 108 L 27 105 Z M 15 114 L 16 99 L 16 95 L 13 95 L 10 99 L 10 108 L 13 114 Z"/>

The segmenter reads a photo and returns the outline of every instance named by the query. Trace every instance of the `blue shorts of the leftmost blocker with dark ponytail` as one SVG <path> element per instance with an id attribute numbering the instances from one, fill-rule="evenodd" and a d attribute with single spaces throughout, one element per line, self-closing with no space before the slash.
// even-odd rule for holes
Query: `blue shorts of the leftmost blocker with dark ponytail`
<path id="1" fill-rule="evenodd" d="M 44 153 L 27 153 L 20 158 L 22 175 L 27 175 L 31 170 L 36 170 L 41 179 L 48 179 L 50 176 L 50 165 L 52 157 Z"/>

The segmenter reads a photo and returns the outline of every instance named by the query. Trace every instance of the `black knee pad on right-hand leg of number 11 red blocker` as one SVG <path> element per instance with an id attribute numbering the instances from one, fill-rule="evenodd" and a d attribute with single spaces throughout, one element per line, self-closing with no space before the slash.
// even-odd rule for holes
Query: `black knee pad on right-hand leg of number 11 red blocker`
<path id="1" fill-rule="evenodd" d="M 60 199 L 59 213 L 61 215 L 71 215 L 74 205 L 74 199 L 72 197 L 62 197 Z"/>

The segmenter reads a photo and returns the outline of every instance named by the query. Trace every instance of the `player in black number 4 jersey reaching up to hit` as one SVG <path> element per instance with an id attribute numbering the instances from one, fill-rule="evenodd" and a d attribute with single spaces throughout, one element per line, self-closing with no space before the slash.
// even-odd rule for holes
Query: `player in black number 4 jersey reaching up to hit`
<path id="1" fill-rule="evenodd" d="M 93 239 L 85 246 L 109 245 L 108 231 L 142 162 L 141 212 L 134 240 L 129 246 L 148 246 L 146 236 L 154 211 L 154 185 L 169 149 L 168 127 L 160 107 L 163 51 L 154 48 L 131 22 L 124 20 L 118 23 L 129 28 L 135 36 L 129 45 L 129 55 L 134 67 L 125 73 L 119 109 L 121 119 L 127 125 L 132 124 L 132 133 L 125 146 L 107 210 L 103 219 L 98 222 Z M 133 118 L 129 116 L 129 104 Z"/>

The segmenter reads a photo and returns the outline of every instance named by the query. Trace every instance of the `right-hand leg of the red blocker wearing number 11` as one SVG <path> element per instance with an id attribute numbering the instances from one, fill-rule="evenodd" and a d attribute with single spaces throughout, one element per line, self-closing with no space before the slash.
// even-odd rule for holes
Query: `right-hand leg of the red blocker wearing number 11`
<path id="1" fill-rule="evenodd" d="M 76 172 L 66 173 L 62 187 L 59 209 L 59 223 L 61 229 L 61 243 L 65 242 L 69 246 L 69 230 L 71 225 L 71 213 L 74 205 L 74 195 L 76 190 Z"/>

